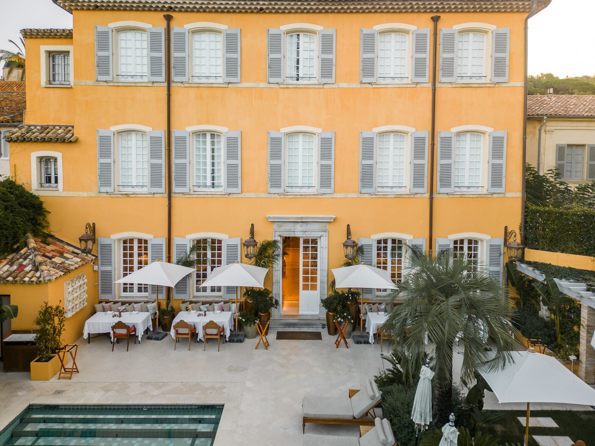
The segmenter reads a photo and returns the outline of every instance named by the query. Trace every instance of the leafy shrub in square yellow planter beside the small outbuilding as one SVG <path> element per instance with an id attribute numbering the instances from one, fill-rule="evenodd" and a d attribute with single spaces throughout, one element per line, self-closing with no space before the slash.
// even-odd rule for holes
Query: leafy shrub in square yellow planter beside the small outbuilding
<path id="1" fill-rule="evenodd" d="M 48 381 L 60 371 L 60 359 L 56 352 L 62 347 L 62 332 L 65 322 L 64 306 L 43 303 L 35 318 L 35 344 L 37 357 L 31 362 L 31 379 Z"/>

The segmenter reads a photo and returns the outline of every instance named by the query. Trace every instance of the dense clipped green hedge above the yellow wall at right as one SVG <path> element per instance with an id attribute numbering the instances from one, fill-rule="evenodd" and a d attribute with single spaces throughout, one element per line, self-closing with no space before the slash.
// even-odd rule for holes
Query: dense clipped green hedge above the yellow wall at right
<path id="1" fill-rule="evenodd" d="M 595 256 L 595 210 L 527 203 L 525 246 L 541 251 Z"/>

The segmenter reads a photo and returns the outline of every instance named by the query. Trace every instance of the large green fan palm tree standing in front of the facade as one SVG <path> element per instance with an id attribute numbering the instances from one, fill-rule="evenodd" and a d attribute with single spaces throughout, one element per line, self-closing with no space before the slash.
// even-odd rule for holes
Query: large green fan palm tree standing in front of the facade
<path id="1" fill-rule="evenodd" d="M 497 369 L 512 362 L 511 350 L 520 348 L 511 334 L 513 308 L 502 285 L 468 260 L 450 253 L 433 258 L 411 250 L 410 255 L 415 267 L 403 275 L 387 307 L 399 295 L 405 300 L 390 312 L 383 331 L 394 335 L 404 379 L 411 379 L 426 357 L 433 359 L 435 419 L 445 423 L 452 412 L 453 349 L 462 354 L 465 382 L 474 381 L 480 365 Z"/>

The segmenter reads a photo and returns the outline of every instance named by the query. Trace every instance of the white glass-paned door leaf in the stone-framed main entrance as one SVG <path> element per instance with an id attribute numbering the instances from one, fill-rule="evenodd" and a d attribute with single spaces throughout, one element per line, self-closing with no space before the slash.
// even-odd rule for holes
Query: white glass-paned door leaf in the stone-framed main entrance
<path id="1" fill-rule="evenodd" d="M 300 315 L 317 315 L 320 306 L 318 291 L 319 238 L 300 238 Z"/>

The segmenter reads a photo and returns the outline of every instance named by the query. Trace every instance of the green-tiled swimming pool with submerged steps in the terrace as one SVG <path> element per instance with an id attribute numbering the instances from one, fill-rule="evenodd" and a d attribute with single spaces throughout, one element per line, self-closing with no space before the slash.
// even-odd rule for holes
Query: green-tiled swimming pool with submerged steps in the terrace
<path id="1" fill-rule="evenodd" d="M 0 446 L 212 446 L 223 404 L 30 404 Z"/>

